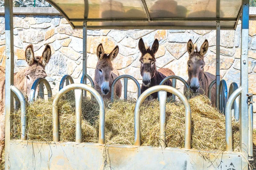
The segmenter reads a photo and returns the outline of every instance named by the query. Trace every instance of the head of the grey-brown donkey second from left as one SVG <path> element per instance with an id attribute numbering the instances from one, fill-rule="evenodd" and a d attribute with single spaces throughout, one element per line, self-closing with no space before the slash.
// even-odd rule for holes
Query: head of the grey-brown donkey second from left
<path id="1" fill-rule="evenodd" d="M 105 54 L 102 43 L 97 47 L 98 63 L 95 69 L 94 81 L 100 86 L 103 95 L 107 95 L 110 92 L 109 81 L 111 72 L 113 71 L 111 61 L 116 58 L 118 52 L 118 46 L 109 55 Z"/>

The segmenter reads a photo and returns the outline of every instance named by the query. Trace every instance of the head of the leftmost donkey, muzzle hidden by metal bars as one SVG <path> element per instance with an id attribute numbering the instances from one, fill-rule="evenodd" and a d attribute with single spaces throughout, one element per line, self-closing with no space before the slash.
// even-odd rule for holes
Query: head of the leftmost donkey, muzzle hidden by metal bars
<path id="1" fill-rule="evenodd" d="M 26 68 L 24 72 L 24 92 L 26 92 L 26 95 L 29 96 L 32 84 L 35 82 L 38 78 L 45 78 L 47 76 L 45 72 L 45 65 L 49 62 L 49 59 L 51 57 L 51 48 L 47 44 L 44 52 L 41 56 L 34 56 L 33 51 L 33 45 L 30 44 L 26 48 L 25 52 L 26 56 L 26 62 L 28 63 L 28 67 Z M 21 78 L 21 77 L 20 77 Z"/>

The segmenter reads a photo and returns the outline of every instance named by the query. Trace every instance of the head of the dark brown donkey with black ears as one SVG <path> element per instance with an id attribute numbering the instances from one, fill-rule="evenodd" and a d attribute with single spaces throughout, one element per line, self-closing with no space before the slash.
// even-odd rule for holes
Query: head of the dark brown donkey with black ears
<path id="1" fill-rule="evenodd" d="M 141 52 L 140 75 L 143 78 L 142 82 L 145 86 L 150 85 L 151 78 L 153 78 L 157 73 L 157 67 L 155 64 L 156 62 L 155 54 L 157 52 L 158 46 L 159 46 L 158 40 L 155 39 L 151 49 L 149 47 L 146 49 L 143 39 L 140 38 L 140 41 L 139 41 L 139 49 Z"/>

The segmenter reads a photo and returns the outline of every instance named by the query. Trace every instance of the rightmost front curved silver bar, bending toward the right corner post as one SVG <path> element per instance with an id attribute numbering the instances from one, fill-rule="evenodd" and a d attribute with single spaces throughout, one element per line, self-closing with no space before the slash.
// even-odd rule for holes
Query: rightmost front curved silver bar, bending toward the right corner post
<path id="1" fill-rule="evenodd" d="M 220 86 L 221 87 L 221 86 Z M 236 98 L 241 94 L 242 89 L 241 87 L 236 89 L 227 101 L 227 107 L 225 110 L 225 118 L 226 118 L 226 150 L 227 152 L 232 152 L 232 105 Z"/>

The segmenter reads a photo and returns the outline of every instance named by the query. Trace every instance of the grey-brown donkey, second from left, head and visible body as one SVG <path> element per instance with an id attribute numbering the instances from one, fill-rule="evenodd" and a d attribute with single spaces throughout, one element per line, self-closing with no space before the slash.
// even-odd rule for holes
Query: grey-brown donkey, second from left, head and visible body
<path id="1" fill-rule="evenodd" d="M 118 46 L 116 46 L 109 55 L 105 54 L 102 43 L 97 47 L 98 62 L 94 74 L 94 84 L 95 89 L 105 100 L 111 99 L 111 85 L 118 77 L 118 75 L 113 72 L 111 63 L 111 61 L 116 58 L 118 52 Z M 116 82 L 114 90 L 115 97 L 120 98 L 122 94 L 122 84 L 120 80 Z"/>

